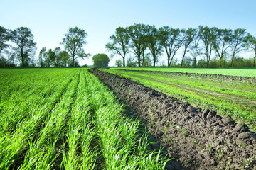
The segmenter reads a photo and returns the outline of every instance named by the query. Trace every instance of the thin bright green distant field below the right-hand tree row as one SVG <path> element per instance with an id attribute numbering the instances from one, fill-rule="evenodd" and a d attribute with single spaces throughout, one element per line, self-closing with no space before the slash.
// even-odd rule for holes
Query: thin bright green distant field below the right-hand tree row
<path id="1" fill-rule="evenodd" d="M 238 77 L 256 77 L 256 68 L 238 68 L 238 69 L 194 69 L 194 68 L 122 68 L 132 70 L 147 70 L 147 71 L 161 71 L 161 72 L 187 72 L 199 74 L 223 74 L 228 76 Z"/>

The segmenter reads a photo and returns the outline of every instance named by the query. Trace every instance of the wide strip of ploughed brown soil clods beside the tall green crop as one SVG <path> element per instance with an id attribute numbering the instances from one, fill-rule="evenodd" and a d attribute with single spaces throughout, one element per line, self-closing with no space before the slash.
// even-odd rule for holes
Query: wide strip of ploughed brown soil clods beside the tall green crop
<path id="1" fill-rule="evenodd" d="M 97 69 L 90 72 L 137 112 L 169 155 L 186 169 L 256 169 L 256 135 L 241 123 L 130 79 Z"/>

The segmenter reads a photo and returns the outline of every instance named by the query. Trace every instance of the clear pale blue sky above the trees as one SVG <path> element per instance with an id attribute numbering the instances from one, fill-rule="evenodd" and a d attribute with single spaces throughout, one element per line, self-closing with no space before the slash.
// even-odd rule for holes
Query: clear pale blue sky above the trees
<path id="1" fill-rule="evenodd" d="M 0 26 L 31 28 L 37 42 L 36 55 L 42 47 L 63 49 L 60 42 L 64 34 L 68 28 L 78 26 L 88 34 L 85 52 L 110 55 L 105 44 L 115 28 L 134 23 L 173 28 L 245 28 L 256 35 L 255 6 L 255 0 L 0 0 Z M 83 63 L 92 64 L 91 57 L 80 62 Z"/>

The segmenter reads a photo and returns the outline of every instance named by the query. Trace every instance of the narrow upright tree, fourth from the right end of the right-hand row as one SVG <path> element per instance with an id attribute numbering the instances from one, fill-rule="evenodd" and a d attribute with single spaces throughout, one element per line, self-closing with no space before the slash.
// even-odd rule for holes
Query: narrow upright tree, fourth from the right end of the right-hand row
<path id="1" fill-rule="evenodd" d="M 199 26 L 199 35 L 203 41 L 206 54 L 206 66 L 209 68 L 210 56 L 213 51 L 213 42 L 215 40 L 215 34 L 213 33 L 215 28 L 208 28 L 208 26 Z"/>

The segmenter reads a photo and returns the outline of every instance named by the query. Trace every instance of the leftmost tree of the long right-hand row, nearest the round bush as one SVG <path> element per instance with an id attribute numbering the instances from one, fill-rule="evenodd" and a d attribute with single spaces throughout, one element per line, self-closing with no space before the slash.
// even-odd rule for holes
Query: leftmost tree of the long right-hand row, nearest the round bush
<path id="1" fill-rule="evenodd" d="M 128 28 L 118 27 L 115 30 L 115 34 L 110 36 L 112 42 L 107 42 L 105 47 L 108 51 L 121 55 L 122 65 L 125 67 L 125 57 L 129 53 L 129 35 Z"/>

